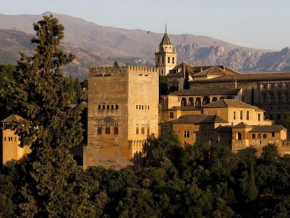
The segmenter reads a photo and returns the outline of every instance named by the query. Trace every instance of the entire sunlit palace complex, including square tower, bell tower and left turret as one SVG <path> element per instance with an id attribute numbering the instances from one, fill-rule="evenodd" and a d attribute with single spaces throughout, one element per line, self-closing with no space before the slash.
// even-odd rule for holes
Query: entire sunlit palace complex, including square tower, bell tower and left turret
<path id="1" fill-rule="evenodd" d="M 89 69 L 87 139 L 83 168 L 123 168 L 143 151 L 149 136 L 173 130 L 184 144 L 223 144 L 234 152 L 277 144 L 290 154 L 281 124 L 290 109 L 290 73 L 240 74 L 223 65 L 177 64 L 166 29 L 156 50 L 156 67 Z M 179 90 L 159 95 L 159 76 Z M 177 84 L 174 83 L 174 84 Z M 186 84 L 186 86 L 185 86 Z M 2 121 L 2 163 L 29 152 Z"/>

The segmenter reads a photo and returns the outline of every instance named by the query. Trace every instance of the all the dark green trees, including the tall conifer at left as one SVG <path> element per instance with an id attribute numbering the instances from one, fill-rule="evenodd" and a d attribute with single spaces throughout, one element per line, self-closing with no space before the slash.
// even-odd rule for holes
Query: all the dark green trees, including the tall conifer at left
<path id="1" fill-rule="evenodd" d="M 0 170 L 0 217 L 289 217 L 290 157 L 274 145 L 256 158 L 181 147 L 171 132 L 150 137 L 130 168 L 83 170 L 69 153 L 82 140 L 79 82 L 60 70 L 74 55 L 59 48 L 57 19 L 44 16 L 34 30 L 34 55 L 0 68 L 1 109 L 24 118 L 11 128 L 32 149 Z"/>

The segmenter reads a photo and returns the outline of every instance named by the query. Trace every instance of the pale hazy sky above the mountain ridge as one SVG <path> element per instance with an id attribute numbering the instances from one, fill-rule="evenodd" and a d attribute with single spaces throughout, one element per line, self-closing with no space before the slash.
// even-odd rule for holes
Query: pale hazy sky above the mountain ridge
<path id="1" fill-rule="evenodd" d="M 98 25 L 211 36 L 238 46 L 290 47 L 289 0 L 0 0 L 0 13 L 46 11 Z"/>

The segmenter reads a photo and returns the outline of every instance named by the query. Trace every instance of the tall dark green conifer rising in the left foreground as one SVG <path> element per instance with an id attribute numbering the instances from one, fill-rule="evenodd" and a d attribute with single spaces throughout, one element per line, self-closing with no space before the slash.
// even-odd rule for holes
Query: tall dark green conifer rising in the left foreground
<path id="1" fill-rule="evenodd" d="M 85 185 L 78 184 L 76 161 L 69 148 L 82 139 L 82 105 L 71 107 L 74 96 L 60 67 L 74 59 L 59 48 L 64 27 L 56 18 L 43 16 L 34 24 L 34 55 L 21 54 L 8 80 L 13 111 L 23 121 L 15 126 L 21 144 L 32 153 L 20 164 L 18 215 L 22 217 L 83 217 L 90 212 Z"/>

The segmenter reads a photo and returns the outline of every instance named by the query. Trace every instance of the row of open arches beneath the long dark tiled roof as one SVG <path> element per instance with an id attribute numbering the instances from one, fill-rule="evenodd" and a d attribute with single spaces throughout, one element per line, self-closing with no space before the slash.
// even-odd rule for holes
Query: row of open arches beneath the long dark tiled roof
<path id="1" fill-rule="evenodd" d="M 202 107 L 205 104 L 209 104 L 211 102 L 216 102 L 218 100 L 223 100 L 223 99 L 233 99 L 233 97 L 209 97 L 209 96 L 203 96 L 203 97 L 182 97 L 181 98 L 181 107 Z"/>

